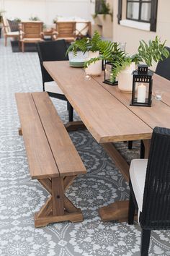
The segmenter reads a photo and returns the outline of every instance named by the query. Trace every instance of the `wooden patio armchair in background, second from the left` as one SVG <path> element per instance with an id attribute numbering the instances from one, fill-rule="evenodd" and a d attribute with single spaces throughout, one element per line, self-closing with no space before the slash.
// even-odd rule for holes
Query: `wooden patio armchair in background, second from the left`
<path id="1" fill-rule="evenodd" d="M 43 22 L 28 21 L 22 22 L 22 29 L 19 34 L 19 41 L 22 45 L 22 52 L 24 52 L 24 43 L 38 43 L 44 41 L 42 32 Z"/>

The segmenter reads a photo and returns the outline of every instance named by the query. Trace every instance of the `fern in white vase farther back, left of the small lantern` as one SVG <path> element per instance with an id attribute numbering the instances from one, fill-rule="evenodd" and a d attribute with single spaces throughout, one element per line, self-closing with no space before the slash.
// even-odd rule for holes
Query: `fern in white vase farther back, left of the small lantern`
<path id="1" fill-rule="evenodd" d="M 87 62 L 90 59 L 96 59 L 99 57 L 99 42 L 101 41 L 101 36 L 95 31 L 92 38 L 81 38 L 74 41 L 71 46 L 69 46 L 67 54 L 69 51 L 73 51 L 73 54 L 76 56 L 77 51 L 82 51 L 84 54 L 88 52 L 88 57 L 86 58 Z M 102 59 L 98 58 L 97 61 L 91 61 L 89 65 L 85 64 L 85 72 L 92 76 L 99 76 L 102 72 Z"/>

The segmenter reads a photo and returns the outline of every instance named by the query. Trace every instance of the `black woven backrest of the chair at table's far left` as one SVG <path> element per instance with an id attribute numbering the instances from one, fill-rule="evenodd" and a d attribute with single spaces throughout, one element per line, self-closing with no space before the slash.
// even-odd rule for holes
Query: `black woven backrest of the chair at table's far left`
<path id="1" fill-rule="evenodd" d="M 55 40 L 49 42 L 37 43 L 37 53 L 40 59 L 40 67 L 42 72 L 42 82 L 53 81 L 50 74 L 43 67 L 43 61 L 67 61 L 67 46 L 65 40 Z"/>

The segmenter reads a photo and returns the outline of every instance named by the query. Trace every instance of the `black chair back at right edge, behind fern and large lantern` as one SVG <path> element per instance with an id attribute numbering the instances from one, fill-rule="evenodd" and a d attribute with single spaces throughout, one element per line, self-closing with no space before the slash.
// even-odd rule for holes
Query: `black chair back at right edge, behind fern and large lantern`
<path id="1" fill-rule="evenodd" d="M 166 49 L 170 53 L 170 48 L 166 47 Z M 157 67 L 156 67 L 156 74 L 161 75 L 161 77 L 164 77 L 168 80 L 170 80 L 170 57 L 165 58 L 163 57 L 162 61 L 158 61 Z"/>

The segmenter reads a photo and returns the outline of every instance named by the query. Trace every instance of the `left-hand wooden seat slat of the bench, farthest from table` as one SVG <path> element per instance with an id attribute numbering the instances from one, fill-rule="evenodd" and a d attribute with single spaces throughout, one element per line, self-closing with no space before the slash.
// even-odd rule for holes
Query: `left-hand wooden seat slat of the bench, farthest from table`
<path id="1" fill-rule="evenodd" d="M 16 93 L 15 96 L 32 179 L 58 177 L 58 168 L 31 93 Z"/>

